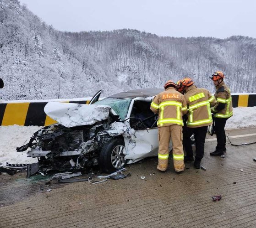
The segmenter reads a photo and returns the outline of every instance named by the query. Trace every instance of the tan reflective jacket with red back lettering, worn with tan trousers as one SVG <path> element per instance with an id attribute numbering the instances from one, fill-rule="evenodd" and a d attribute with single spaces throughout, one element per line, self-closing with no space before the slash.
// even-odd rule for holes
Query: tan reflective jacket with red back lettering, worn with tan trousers
<path id="1" fill-rule="evenodd" d="M 150 109 L 158 113 L 158 127 L 171 124 L 183 126 L 182 115 L 187 112 L 185 97 L 173 87 L 159 93 L 151 103 Z"/>

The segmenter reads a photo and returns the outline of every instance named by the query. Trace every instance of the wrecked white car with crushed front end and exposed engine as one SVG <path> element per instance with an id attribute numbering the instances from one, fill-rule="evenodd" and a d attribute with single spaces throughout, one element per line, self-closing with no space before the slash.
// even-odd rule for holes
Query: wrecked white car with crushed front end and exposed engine
<path id="1" fill-rule="evenodd" d="M 39 170 L 65 171 L 99 166 L 111 172 L 158 155 L 157 115 L 150 110 L 163 89 L 116 93 L 93 104 L 48 103 L 44 111 L 58 124 L 34 133 L 17 151 L 38 157 Z M 171 145 L 170 145 L 171 147 Z"/>

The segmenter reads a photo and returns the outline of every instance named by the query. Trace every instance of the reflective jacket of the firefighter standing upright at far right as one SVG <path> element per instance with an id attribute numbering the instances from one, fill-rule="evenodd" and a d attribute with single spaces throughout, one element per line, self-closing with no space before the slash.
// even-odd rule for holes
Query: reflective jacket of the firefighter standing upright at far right
<path id="1" fill-rule="evenodd" d="M 212 107 L 212 113 L 216 118 L 229 118 L 233 115 L 232 96 L 230 89 L 224 82 L 219 83 L 216 86 L 216 104 Z"/>

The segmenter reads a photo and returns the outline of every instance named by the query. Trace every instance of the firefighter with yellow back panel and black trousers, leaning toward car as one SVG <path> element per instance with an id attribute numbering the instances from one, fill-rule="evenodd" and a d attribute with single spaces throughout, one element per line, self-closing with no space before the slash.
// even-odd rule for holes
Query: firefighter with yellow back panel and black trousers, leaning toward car
<path id="1" fill-rule="evenodd" d="M 208 125 L 212 124 L 211 108 L 215 104 L 215 98 L 205 88 L 197 88 L 191 78 L 181 81 L 181 88 L 185 92 L 188 107 L 187 127 L 194 133 L 196 144 L 196 157 L 193 158 L 193 150 L 190 141 L 185 141 L 186 156 L 184 161 L 194 161 L 196 169 L 200 169 L 204 155 L 204 143 Z M 184 139 L 186 140 L 186 139 Z"/>

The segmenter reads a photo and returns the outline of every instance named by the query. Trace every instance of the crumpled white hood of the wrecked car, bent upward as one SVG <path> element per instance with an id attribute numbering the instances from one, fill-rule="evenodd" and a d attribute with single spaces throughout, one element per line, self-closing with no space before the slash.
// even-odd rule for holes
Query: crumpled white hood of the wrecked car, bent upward
<path id="1" fill-rule="evenodd" d="M 73 104 L 49 102 L 44 112 L 65 127 L 75 127 L 95 124 L 108 119 L 109 114 L 117 115 L 108 105 Z"/>

